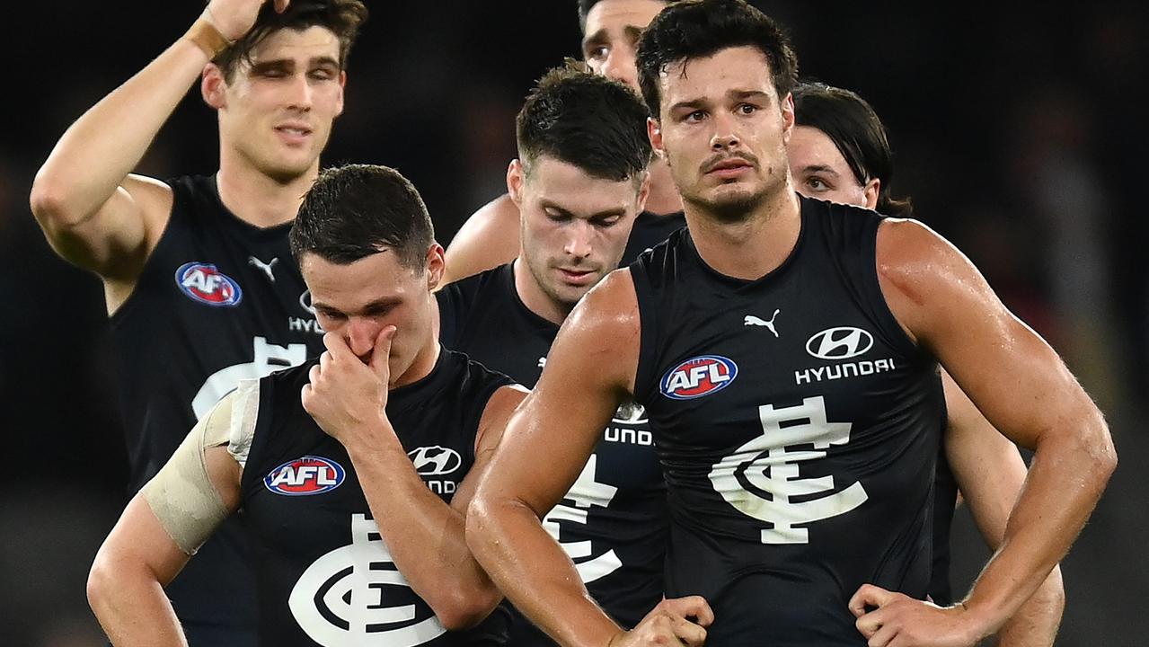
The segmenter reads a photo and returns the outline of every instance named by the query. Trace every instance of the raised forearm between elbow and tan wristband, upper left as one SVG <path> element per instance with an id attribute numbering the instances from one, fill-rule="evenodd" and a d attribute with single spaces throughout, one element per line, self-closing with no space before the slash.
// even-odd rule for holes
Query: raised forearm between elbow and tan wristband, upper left
<path id="1" fill-rule="evenodd" d="M 84 113 L 36 177 L 37 216 L 65 226 L 91 217 L 139 164 L 207 62 L 203 51 L 179 39 Z"/>

